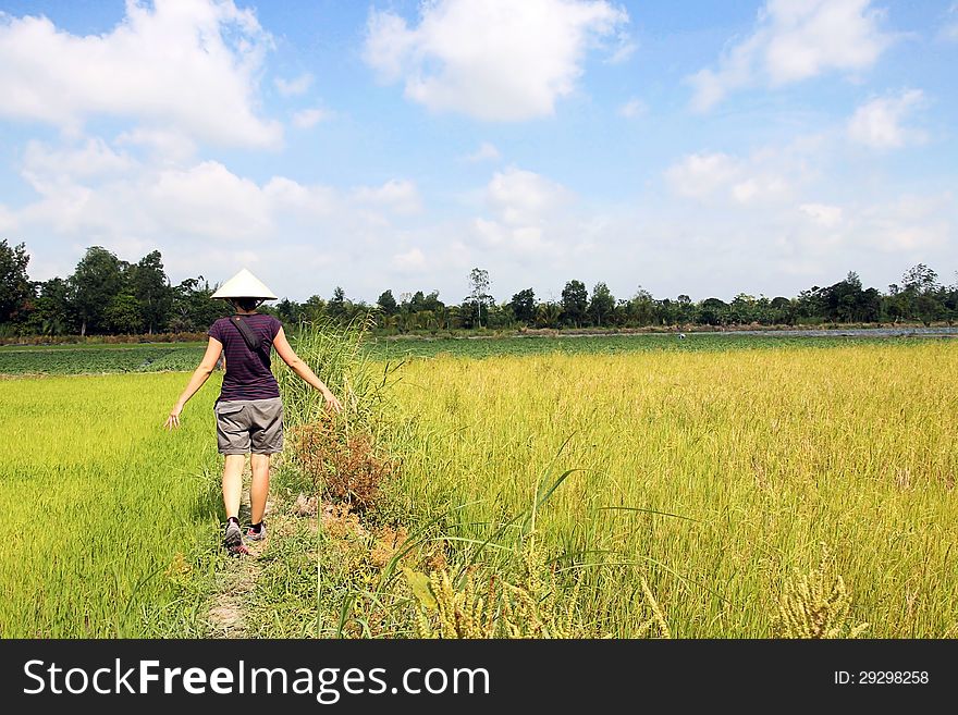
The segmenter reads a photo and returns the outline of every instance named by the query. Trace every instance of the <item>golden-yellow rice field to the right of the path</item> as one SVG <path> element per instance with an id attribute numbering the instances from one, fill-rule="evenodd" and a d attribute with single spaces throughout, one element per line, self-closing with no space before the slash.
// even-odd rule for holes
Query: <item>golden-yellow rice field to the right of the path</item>
<path id="1" fill-rule="evenodd" d="M 639 632 L 644 577 L 673 637 L 771 636 L 824 544 L 850 625 L 954 638 L 956 347 L 413 362 L 396 386 L 398 492 L 420 514 L 468 504 L 447 528 L 482 541 L 529 507 L 568 439 L 553 474 L 581 471 L 536 528 L 554 568 L 582 579 L 598 632 Z"/>

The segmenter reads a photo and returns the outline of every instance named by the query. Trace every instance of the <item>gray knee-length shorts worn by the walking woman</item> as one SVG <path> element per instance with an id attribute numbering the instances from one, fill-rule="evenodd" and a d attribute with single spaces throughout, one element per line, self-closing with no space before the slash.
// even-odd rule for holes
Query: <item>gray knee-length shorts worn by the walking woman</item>
<path id="1" fill-rule="evenodd" d="M 220 454 L 273 454 L 283 448 L 283 403 L 271 399 L 218 402 Z"/>

